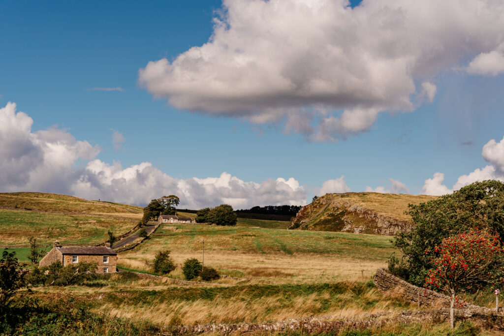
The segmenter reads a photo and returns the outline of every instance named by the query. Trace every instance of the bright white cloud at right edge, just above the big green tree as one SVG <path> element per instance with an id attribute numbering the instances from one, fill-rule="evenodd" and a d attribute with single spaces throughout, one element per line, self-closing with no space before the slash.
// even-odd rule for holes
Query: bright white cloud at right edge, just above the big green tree
<path id="1" fill-rule="evenodd" d="M 467 175 L 460 176 L 457 179 L 457 183 L 455 183 L 451 189 L 443 184 L 445 174 L 439 172 L 435 173 L 432 178 L 425 180 L 422 193 L 438 196 L 451 193 L 476 181 L 504 181 L 504 138 L 498 143 L 494 139 L 490 140 L 483 146 L 481 155 L 490 165 L 484 168 L 477 168 Z"/>

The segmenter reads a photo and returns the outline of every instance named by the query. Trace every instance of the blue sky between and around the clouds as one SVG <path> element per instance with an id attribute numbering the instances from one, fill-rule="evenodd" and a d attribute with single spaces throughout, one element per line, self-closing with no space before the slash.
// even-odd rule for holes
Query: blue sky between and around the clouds
<path id="1" fill-rule="evenodd" d="M 351 191 L 387 187 L 392 178 L 420 193 L 436 172 L 444 173 L 444 184 L 451 187 L 459 176 L 492 163 L 481 153 L 491 139 L 498 143 L 504 136 L 502 73 L 479 76 L 456 69 L 492 50 L 489 44 L 454 51 L 457 61 L 412 76 L 417 88 L 425 79 L 435 84 L 432 102 L 407 113 L 385 108 L 371 125 L 339 134 L 336 141 L 286 134 L 285 118 L 254 123 L 245 114 L 188 111 L 139 85 L 139 69 L 149 61 L 172 62 L 208 42 L 222 8 L 220 1 L 208 0 L 2 1 L 0 107 L 16 103 L 17 111 L 33 119 L 32 132 L 57 127 L 98 145 L 95 158 L 110 165 L 151 162 L 176 179 L 222 172 L 257 183 L 293 177 L 308 199 L 325 181 L 342 175 Z M 92 90 L 116 87 L 122 91 Z M 344 108 L 332 109 L 338 116 Z M 119 150 L 112 144 L 114 130 L 125 138 Z M 88 161 L 79 159 L 71 169 Z"/>

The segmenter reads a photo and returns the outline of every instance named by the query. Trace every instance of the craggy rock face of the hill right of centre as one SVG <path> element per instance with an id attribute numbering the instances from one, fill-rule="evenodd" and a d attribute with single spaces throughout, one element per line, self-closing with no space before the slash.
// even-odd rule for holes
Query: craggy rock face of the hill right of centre
<path id="1" fill-rule="evenodd" d="M 327 194 L 299 211 L 289 229 L 297 228 L 394 236 L 410 231 L 413 223 L 380 214 L 339 194 Z"/>

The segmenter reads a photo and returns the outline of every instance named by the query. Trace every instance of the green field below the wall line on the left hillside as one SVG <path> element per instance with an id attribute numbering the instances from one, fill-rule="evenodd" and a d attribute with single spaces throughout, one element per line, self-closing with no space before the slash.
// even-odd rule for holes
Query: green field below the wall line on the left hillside
<path id="1" fill-rule="evenodd" d="M 108 230 L 121 234 L 134 226 L 112 218 L 0 209 L 0 245 L 25 245 L 30 236 L 38 243 L 101 242 Z"/>

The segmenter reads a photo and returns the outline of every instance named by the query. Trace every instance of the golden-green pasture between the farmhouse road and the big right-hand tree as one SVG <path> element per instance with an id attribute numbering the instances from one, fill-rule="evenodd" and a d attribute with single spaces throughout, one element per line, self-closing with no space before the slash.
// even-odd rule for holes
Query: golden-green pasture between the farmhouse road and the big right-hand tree
<path id="1" fill-rule="evenodd" d="M 141 246 L 120 253 L 118 262 L 148 262 L 161 249 L 171 250 L 178 264 L 191 257 L 201 260 L 205 240 L 205 264 L 224 275 L 267 283 L 310 283 L 362 280 L 362 270 L 364 279 L 370 279 L 394 251 L 390 238 L 384 236 L 199 224 L 169 226 L 176 230 L 161 227 Z"/>

